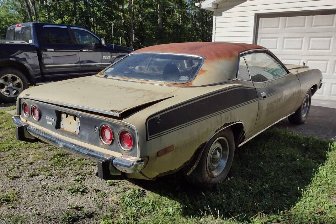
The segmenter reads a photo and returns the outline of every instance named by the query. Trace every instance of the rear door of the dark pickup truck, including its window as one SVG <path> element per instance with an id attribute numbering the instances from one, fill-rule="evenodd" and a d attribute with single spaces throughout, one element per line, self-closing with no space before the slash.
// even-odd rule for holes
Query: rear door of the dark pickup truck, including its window
<path id="1" fill-rule="evenodd" d="M 79 54 L 67 26 L 44 25 L 39 44 L 46 77 L 62 77 L 80 73 Z"/>

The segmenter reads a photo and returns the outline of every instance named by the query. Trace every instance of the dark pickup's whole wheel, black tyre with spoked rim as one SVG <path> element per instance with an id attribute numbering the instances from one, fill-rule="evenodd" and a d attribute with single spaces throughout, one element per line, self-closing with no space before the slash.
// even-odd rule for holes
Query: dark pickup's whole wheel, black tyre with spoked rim
<path id="1" fill-rule="evenodd" d="M 19 70 L 13 68 L 0 70 L 1 102 L 15 102 L 16 97 L 28 87 L 26 76 Z"/>

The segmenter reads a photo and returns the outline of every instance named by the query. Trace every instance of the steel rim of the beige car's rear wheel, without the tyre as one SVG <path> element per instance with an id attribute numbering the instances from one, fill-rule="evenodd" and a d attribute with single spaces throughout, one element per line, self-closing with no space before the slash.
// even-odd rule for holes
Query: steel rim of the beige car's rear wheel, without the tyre
<path id="1" fill-rule="evenodd" d="M 217 138 L 211 145 L 207 156 L 207 170 L 212 177 L 222 173 L 229 155 L 229 145 L 224 137 Z"/>

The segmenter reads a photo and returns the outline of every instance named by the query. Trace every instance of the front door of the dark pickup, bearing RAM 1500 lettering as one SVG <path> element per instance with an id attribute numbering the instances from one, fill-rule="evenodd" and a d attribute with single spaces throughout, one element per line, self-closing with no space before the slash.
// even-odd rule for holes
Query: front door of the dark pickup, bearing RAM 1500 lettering
<path id="1" fill-rule="evenodd" d="M 111 64 L 110 49 L 89 30 L 71 27 L 77 41 L 82 74 L 96 74 Z"/>

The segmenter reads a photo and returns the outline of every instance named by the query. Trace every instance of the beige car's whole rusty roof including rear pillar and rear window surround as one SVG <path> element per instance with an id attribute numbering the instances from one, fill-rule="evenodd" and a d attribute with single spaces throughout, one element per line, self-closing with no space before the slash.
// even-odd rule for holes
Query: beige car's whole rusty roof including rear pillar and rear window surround
<path id="1" fill-rule="evenodd" d="M 149 80 L 141 80 L 145 83 L 158 83 L 168 86 L 204 86 L 230 81 L 236 78 L 238 67 L 238 55 L 242 51 L 263 48 L 253 44 L 243 43 L 219 43 L 219 42 L 191 42 L 160 44 L 144 47 L 132 53 L 177 53 L 203 56 L 204 62 L 201 65 L 196 77 L 187 83 L 166 83 Z M 103 76 L 101 73 L 98 76 Z M 115 79 L 134 81 L 125 77 L 114 77 Z M 138 80 L 137 80 L 138 81 Z"/>

